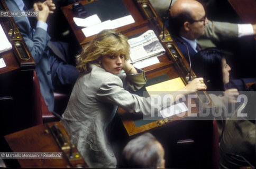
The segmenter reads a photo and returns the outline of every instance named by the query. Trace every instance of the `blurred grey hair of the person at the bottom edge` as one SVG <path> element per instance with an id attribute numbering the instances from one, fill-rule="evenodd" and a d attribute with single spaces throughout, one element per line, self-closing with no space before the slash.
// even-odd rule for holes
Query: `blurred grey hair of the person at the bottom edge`
<path id="1" fill-rule="evenodd" d="M 124 147 L 121 165 L 125 168 L 157 168 L 161 156 L 157 139 L 150 133 L 136 137 Z"/>

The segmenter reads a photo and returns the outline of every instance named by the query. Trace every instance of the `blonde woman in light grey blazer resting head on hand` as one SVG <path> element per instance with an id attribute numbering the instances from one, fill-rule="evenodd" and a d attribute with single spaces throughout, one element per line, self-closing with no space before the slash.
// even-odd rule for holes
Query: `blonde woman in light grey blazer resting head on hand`
<path id="1" fill-rule="evenodd" d="M 114 107 L 150 114 L 151 98 L 129 92 L 146 83 L 144 72 L 127 62 L 129 51 L 126 36 L 104 30 L 77 57 L 80 76 L 62 123 L 89 167 L 116 167 L 116 158 L 105 131 L 115 115 Z M 201 81 L 202 78 L 195 79 L 183 90 L 206 89 Z"/>

